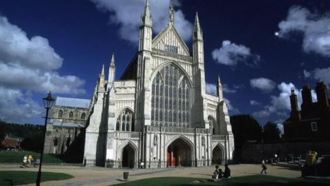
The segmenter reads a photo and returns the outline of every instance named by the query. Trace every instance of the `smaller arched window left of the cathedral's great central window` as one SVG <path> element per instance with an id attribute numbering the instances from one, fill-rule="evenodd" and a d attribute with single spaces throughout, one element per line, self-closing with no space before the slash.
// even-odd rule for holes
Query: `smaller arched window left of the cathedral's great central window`
<path id="1" fill-rule="evenodd" d="M 134 131 L 134 119 L 133 112 L 131 110 L 125 109 L 117 117 L 117 122 L 115 123 L 116 131 Z"/>

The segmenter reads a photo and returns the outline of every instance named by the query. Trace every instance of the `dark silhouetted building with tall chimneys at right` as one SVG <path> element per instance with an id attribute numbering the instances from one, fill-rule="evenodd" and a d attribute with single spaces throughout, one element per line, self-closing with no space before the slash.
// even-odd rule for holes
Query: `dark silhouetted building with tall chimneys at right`
<path id="1" fill-rule="evenodd" d="M 290 96 L 291 116 L 284 122 L 286 139 L 305 139 L 307 141 L 330 141 L 330 108 L 327 86 L 316 84 L 318 101 L 313 103 L 309 85 L 301 91 L 303 103 L 298 110 L 297 96 L 292 90 Z"/>

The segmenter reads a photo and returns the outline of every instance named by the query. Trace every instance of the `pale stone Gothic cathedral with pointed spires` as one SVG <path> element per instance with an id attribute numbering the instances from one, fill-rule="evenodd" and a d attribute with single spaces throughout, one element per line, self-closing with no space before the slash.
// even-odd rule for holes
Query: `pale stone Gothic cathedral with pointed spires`
<path id="1" fill-rule="evenodd" d="M 86 165 L 129 168 L 200 167 L 232 160 L 234 136 L 220 79 L 217 96 L 206 94 L 203 32 L 198 14 L 192 52 L 168 25 L 153 38 L 148 0 L 138 51 L 119 80 L 115 57 L 104 65 L 89 107 Z"/>

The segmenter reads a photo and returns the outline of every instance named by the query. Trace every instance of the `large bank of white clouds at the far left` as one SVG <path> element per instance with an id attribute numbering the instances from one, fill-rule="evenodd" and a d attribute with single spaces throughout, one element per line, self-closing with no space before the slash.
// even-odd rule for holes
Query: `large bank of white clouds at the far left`
<path id="1" fill-rule="evenodd" d="M 0 118 L 20 121 L 40 114 L 32 92 L 85 93 L 84 80 L 56 72 L 62 64 L 47 39 L 29 39 L 21 28 L 0 17 Z"/>

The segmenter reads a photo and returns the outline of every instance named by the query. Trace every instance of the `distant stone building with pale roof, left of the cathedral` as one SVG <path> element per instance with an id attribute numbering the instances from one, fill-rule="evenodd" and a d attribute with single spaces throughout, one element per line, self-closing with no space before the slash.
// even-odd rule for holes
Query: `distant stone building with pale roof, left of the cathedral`
<path id="1" fill-rule="evenodd" d="M 45 153 L 63 154 L 67 151 L 85 128 L 90 102 L 88 99 L 56 98 L 47 123 Z"/>

